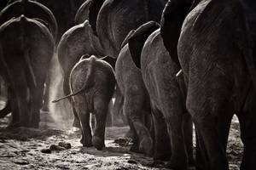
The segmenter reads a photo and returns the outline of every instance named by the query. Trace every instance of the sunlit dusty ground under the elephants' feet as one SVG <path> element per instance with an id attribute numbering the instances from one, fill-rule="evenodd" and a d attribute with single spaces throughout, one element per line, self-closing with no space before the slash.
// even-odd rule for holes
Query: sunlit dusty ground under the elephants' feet
<path id="1" fill-rule="evenodd" d="M 0 101 L 0 108 L 3 102 Z M 44 113 L 43 113 L 44 114 Z M 54 122 L 45 122 L 39 129 L 19 128 L 6 130 L 8 118 L 0 120 L 0 169 L 163 169 L 155 167 L 151 158 L 131 153 L 131 143 L 117 144 L 114 139 L 123 138 L 128 127 L 108 127 L 106 148 L 84 148 L 79 143 L 79 131 L 71 128 L 58 130 Z M 63 122 L 64 123 L 64 122 Z M 71 149 L 57 148 L 43 153 L 52 144 L 71 144 Z M 122 145 L 122 146 L 121 146 Z M 46 150 L 49 151 L 49 150 Z M 230 169 L 239 169 L 242 144 L 239 139 L 239 124 L 232 122 L 227 156 Z"/>

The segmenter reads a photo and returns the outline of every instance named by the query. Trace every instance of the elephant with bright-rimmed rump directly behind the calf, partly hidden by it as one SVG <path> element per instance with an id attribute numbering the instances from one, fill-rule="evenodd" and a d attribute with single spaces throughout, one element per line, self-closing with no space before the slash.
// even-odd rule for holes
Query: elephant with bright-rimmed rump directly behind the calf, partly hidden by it
<path id="1" fill-rule="evenodd" d="M 88 20 L 83 24 L 73 26 L 61 37 L 58 45 L 58 59 L 63 71 L 63 91 L 64 94 L 70 94 L 69 76 L 73 66 L 79 61 L 83 54 L 97 54 L 102 56 L 102 47 L 98 38 L 92 33 Z M 73 111 L 76 116 L 76 111 Z M 73 125 L 79 127 L 79 122 L 74 119 Z"/>

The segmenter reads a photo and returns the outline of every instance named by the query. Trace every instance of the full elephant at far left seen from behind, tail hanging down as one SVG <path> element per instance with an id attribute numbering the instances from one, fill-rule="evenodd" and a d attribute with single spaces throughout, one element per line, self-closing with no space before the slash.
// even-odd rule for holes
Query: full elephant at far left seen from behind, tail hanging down
<path id="1" fill-rule="evenodd" d="M 12 125 L 38 127 L 44 82 L 55 42 L 48 28 L 24 15 L 0 26 L 1 75 L 8 83 Z M 13 41 L 15 39 L 15 41 Z"/>

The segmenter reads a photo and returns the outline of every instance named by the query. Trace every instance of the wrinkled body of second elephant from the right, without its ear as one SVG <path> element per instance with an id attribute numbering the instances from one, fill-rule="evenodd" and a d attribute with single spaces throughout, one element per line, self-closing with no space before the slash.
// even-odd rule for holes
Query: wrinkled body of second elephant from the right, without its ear
<path id="1" fill-rule="evenodd" d="M 167 167 L 187 169 L 189 164 L 193 165 L 194 160 L 192 122 L 186 111 L 183 94 L 186 89 L 183 89 L 183 76 L 176 77 L 179 68 L 166 51 L 160 29 L 154 31 L 144 43 L 141 70 L 154 115 L 154 159 L 169 159 L 172 148 L 172 156 Z M 166 127 L 171 143 L 168 143 L 169 140 L 163 140 Z"/>

